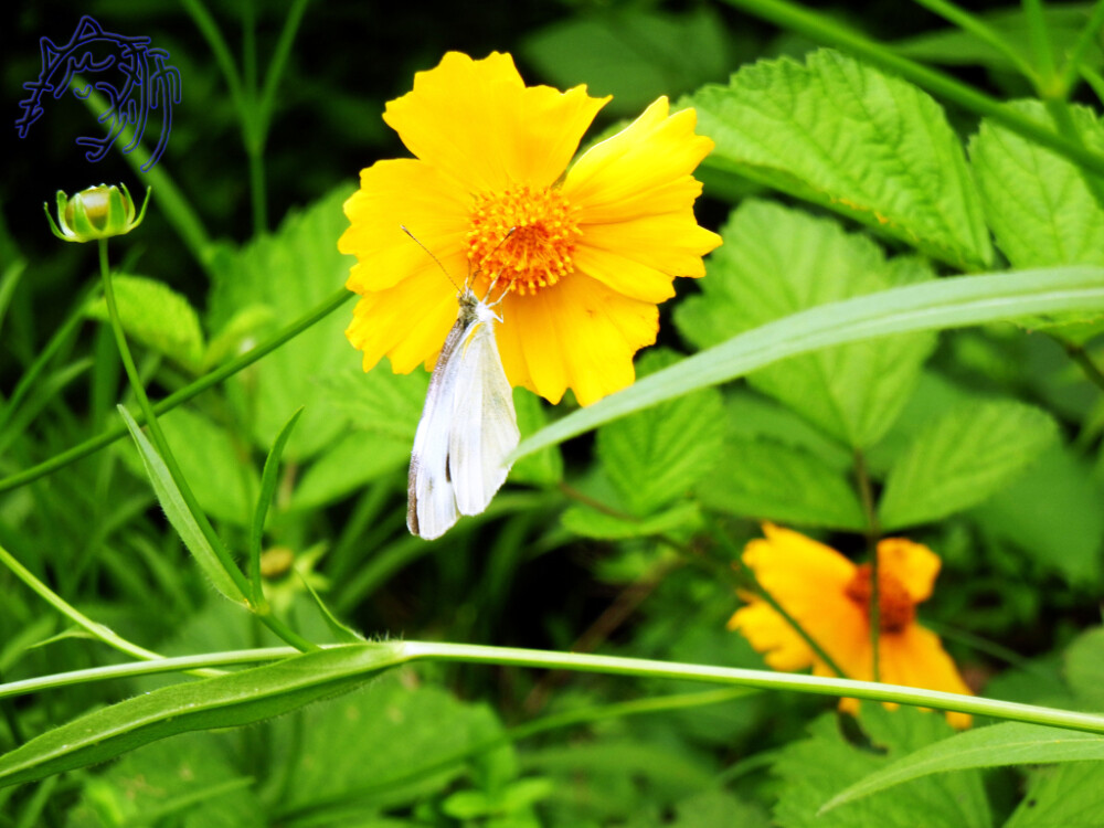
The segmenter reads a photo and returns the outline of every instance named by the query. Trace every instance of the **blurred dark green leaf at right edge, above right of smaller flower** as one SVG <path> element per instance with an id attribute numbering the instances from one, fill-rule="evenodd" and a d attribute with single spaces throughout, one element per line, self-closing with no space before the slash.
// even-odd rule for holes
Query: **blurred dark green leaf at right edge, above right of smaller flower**
<path id="1" fill-rule="evenodd" d="M 1002 538 L 1059 573 L 1068 584 L 1101 581 L 1104 487 L 1092 466 L 1069 447 L 1052 444 L 1031 466 L 975 509 L 989 534 Z"/>

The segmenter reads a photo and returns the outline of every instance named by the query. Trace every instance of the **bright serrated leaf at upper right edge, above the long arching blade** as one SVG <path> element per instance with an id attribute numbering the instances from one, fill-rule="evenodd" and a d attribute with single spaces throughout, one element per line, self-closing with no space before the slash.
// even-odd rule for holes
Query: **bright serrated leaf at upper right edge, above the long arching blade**
<path id="1" fill-rule="evenodd" d="M 1009 108 L 1057 130 L 1038 100 Z M 1091 109 L 1070 108 L 1081 141 L 1104 148 L 1104 125 Z M 997 245 L 1013 267 L 1104 265 L 1104 209 L 1087 174 L 1062 156 L 983 120 L 969 145 L 981 203 Z M 1104 182 L 1096 180 L 1097 188 Z M 1092 325 L 1104 316 L 1079 314 L 1058 320 L 1063 336 L 1084 342 L 1101 330 Z M 1039 320 L 1036 327 L 1053 320 Z M 1079 322 L 1075 328 L 1070 328 Z"/>

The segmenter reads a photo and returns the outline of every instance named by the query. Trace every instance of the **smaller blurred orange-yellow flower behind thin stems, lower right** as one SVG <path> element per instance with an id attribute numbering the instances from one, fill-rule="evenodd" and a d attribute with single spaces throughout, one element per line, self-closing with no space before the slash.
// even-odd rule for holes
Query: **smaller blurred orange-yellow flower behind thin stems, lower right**
<path id="1" fill-rule="evenodd" d="M 857 566 L 836 550 L 799 532 L 771 523 L 765 540 L 751 541 L 743 561 L 766 592 L 802 625 L 850 679 L 873 678 L 870 650 L 870 564 Z M 890 684 L 969 693 L 940 637 L 916 624 L 916 604 L 932 594 L 940 559 L 927 546 L 903 538 L 878 544 L 878 643 L 881 680 Z M 805 640 L 766 602 L 743 596 L 729 629 L 737 629 L 752 647 L 765 652 L 776 670 L 813 667 L 816 676 L 835 676 Z M 858 701 L 843 699 L 853 712 Z M 970 716 L 947 713 L 956 728 L 968 728 Z"/>

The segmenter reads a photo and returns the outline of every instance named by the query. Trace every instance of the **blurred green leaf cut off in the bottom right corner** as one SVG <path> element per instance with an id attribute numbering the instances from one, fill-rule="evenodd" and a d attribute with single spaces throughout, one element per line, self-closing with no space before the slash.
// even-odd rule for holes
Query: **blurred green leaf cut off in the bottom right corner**
<path id="1" fill-rule="evenodd" d="M 1104 814 L 1104 765 L 1071 762 L 1036 768 L 1004 828 L 1097 828 Z"/>

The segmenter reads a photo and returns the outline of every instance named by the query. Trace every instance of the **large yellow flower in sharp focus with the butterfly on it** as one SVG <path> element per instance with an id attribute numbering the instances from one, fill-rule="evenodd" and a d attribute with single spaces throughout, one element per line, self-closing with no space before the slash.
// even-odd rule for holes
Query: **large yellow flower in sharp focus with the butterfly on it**
<path id="1" fill-rule="evenodd" d="M 587 405 L 630 384 L 633 354 L 656 340 L 675 276 L 703 276 L 721 240 L 698 226 L 691 172 L 713 148 L 692 109 L 659 98 L 635 123 L 569 162 L 607 98 L 585 86 L 527 87 L 508 54 L 449 52 L 388 103 L 383 119 L 416 158 L 361 171 L 339 247 L 357 256 L 362 298 L 346 331 L 396 373 L 432 368 L 456 321 L 459 282 L 507 291 L 498 347 L 512 385 Z M 566 170 L 566 172 L 565 172 Z M 510 233 L 513 229 L 512 234 Z"/>

